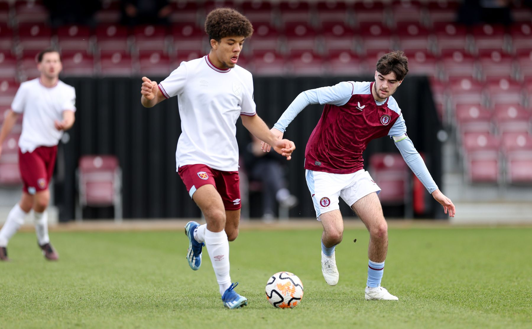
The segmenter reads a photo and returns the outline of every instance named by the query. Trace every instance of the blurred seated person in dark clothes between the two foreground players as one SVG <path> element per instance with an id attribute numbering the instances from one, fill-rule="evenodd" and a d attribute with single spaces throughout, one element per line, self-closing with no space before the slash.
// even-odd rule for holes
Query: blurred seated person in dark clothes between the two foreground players
<path id="1" fill-rule="evenodd" d="M 262 218 L 271 220 L 276 214 L 276 205 L 292 208 L 297 205 L 297 198 L 290 194 L 285 183 L 284 157 L 261 150 L 261 141 L 251 135 L 244 155 L 246 170 L 250 183 L 262 183 Z"/>

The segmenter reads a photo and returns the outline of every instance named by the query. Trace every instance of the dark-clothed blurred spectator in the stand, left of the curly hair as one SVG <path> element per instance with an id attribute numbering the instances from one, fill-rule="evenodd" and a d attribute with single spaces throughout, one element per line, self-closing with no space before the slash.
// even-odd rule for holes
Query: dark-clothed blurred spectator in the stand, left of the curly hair
<path id="1" fill-rule="evenodd" d="M 168 24 L 168 0 L 122 0 L 122 24 Z"/>

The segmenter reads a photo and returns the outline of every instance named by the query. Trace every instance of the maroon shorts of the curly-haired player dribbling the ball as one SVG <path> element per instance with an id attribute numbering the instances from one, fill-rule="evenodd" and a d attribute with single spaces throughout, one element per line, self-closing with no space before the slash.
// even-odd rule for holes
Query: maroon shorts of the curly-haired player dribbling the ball
<path id="1" fill-rule="evenodd" d="M 193 164 L 179 167 L 178 173 L 191 198 L 197 189 L 211 184 L 220 193 L 226 210 L 240 209 L 238 171 L 221 171 L 204 164 Z"/>

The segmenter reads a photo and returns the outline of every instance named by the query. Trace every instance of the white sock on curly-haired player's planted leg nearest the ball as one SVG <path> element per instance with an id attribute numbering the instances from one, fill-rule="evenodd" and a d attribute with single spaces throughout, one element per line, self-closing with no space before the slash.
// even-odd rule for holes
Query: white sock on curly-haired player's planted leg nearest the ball
<path id="1" fill-rule="evenodd" d="M 205 246 L 211 258 L 216 280 L 220 285 L 220 294 L 231 285 L 229 276 L 229 240 L 226 231 L 211 232 L 205 229 Z"/>

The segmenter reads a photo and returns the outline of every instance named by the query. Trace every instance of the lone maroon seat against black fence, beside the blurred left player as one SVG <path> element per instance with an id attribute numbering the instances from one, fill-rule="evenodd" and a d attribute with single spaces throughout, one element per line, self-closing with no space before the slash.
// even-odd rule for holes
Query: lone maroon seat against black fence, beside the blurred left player
<path id="1" fill-rule="evenodd" d="M 112 155 L 85 155 L 79 159 L 79 201 L 76 218 L 84 207 L 114 207 L 115 221 L 122 219 L 122 172 Z"/>

